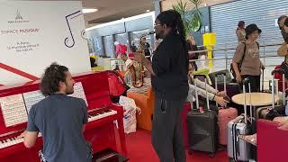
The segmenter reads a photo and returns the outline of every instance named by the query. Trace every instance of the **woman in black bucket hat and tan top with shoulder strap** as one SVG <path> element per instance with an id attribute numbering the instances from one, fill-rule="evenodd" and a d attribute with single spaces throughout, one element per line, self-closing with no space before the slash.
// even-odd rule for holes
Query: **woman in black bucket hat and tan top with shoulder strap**
<path id="1" fill-rule="evenodd" d="M 249 78 L 251 92 L 260 91 L 261 68 L 265 68 L 259 57 L 259 44 L 257 39 L 261 30 L 256 24 L 249 24 L 246 31 L 246 40 L 239 43 L 232 59 L 232 68 L 238 84 L 244 78 Z"/>

